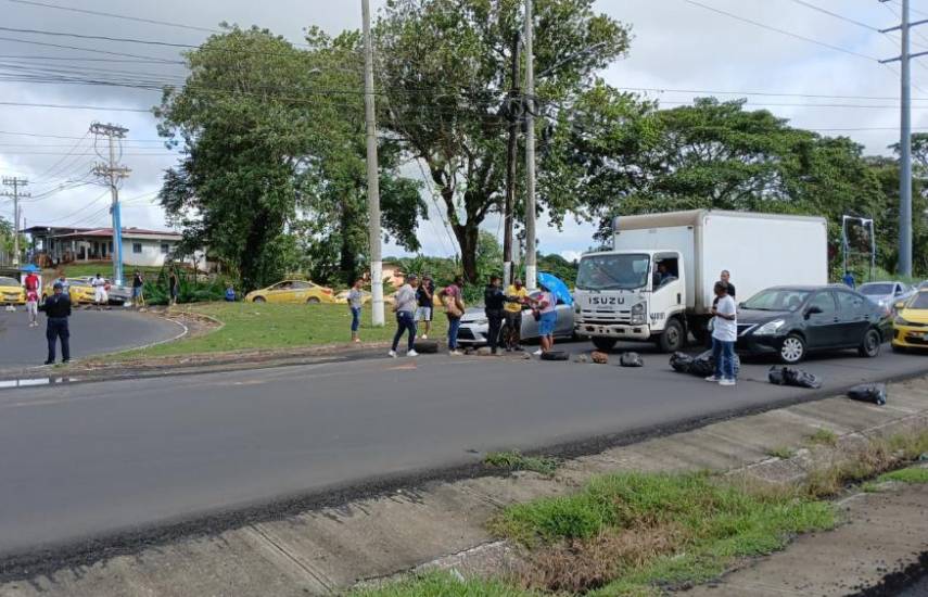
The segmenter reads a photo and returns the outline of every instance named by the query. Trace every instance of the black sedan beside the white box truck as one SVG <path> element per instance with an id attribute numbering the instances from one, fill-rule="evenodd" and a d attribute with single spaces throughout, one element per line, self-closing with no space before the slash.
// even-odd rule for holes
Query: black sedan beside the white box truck
<path id="1" fill-rule="evenodd" d="M 889 336 L 885 312 L 846 287 L 778 287 L 739 305 L 736 348 L 792 365 L 821 351 L 875 357 Z"/>

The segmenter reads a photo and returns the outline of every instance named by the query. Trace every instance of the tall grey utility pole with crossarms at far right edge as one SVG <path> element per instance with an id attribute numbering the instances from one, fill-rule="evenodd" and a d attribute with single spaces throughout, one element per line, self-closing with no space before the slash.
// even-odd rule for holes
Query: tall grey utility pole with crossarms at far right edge
<path id="1" fill-rule="evenodd" d="M 886 2 L 887 0 L 880 0 Z M 882 29 L 880 33 L 900 30 L 902 34 L 902 51 L 899 56 L 880 62 L 900 61 L 901 102 L 900 102 L 900 168 L 899 168 L 899 274 L 912 276 L 912 59 L 928 54 L 910 51 L 910 33 L 912 27 L 928 23 L 928 18 L 911 23 L 908 20 L 910 0 L 902 0 L 902 24 L 898 27 Z"/>

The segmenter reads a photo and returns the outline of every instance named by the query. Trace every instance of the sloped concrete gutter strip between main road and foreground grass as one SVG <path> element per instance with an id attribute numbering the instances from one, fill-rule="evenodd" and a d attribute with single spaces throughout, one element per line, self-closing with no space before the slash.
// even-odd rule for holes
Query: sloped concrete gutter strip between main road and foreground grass
<path id="1" fill-rule="evenodd" d="M 419 567 L 495 571 L 516 556 L 487 533 L 486 522 L 508 504 L 564 494 L 596 474 L 622 470 L 747 468 L 802 475 L 806 460 L 768 453 L 802 446 L 822 428 L 837 433 L 839 445 L 926 429 L 928 381 L 891 384 L 883 407 L 832 397 L 612 447 L 567 461 L 550 479 L 517 473 L 432 481 L 225 530 L 155 537 L 130 551 L 99 550 L 58 570 L 0 568 L 0 596 L 305 596 L 338 594 Z M 917 558 L 920 550 L 911 551 Z"/>

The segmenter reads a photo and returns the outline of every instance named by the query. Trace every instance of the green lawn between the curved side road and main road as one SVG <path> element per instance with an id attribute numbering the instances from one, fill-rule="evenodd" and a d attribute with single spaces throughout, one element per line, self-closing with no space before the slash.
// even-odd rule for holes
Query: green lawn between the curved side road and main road
<path id="1" fill-rule="evenodd" d="M 180 308 L 214 317 L 225 323 L 217 331 L 144 351 L 130 351 L 120 356 L 173 356 L 226 351 L 274 350 L 347 344 L 351 341 L 352 315 L 347 305 L 272 305 L 260 303 L 202 303 Z M 371 313 L 361 314 L 360 338 L 365 342 L 393 339 L 396 331 L 393 314 L 386 307 L 386 326 L 371 326 Z M 436 313 L 432 336 L 441 339 L 447 320 Z M 404 338 L 405 341 L 405 338 Z"/>

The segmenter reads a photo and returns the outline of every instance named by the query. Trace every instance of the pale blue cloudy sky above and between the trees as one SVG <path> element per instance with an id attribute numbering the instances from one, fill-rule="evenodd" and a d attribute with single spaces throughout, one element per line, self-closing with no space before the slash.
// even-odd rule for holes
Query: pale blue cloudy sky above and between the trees
<path id="1" fill-rule="evenodd" d="M 912 2 L 913 20 L 928 17 L 928 0 Z M 383 0 L 371 3 L 379 9 Z M 872 153 L 886 153 L 898 139 L 899 63 L 880 65 L 878 59 L 898 55 L 899 37 L 876 30 L 898 23 L 897 0 L 599 0 L 597 8 L 633 27 L 627 59 L 603 73 L 614 86 L 665 106 L 697 96 L 747 98 L 796 126 L 847 135 Z M 123 162 L 132 175 L 120 194 L 124 225 L 165 228 L 152 198 L 176 156 L 158 142 L 155 120 L 145 112 L 158 93 L 63 84 L 61 77 L 79 67 L 85 79 L 98 72 L 127 81 L 157 73 L 180 81 L 183 68 L 171 64 L 178 49 L 24 29 L 195 46 L 225 21 L 257 24 L 298 42 L 307 25 L 332 33 L 359 27 L 360 1 L 0 0 L 0 174 L 29 179 L 33 199 L 23 202 L 28 225 L 107 225 L 109 194 L 88 174 L 98 161 L 87 135 L 97 120 L 129 129 Z M 928 49 L 928 25 L 923 29 L 914 33 L 913 51 Z M 928 129 L 928 61 L 916 61 L 912 73 L 913 126 Z M 0 201 L 0 214 L 12 216 L 10 201 Z M 420 224 L 424 251 L 449 254 L 440 216 L 432 220 Z M 498 221 L 488 220 L 486 228 L 498 233 Z M 592 230 L 576 223 L 562 231 L 544 228 L 541 249 L 573 257 L 592 243 Z"/>

